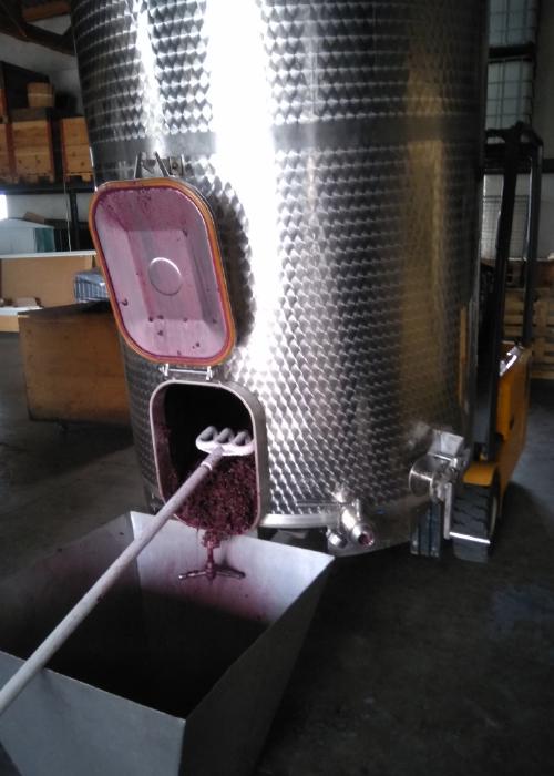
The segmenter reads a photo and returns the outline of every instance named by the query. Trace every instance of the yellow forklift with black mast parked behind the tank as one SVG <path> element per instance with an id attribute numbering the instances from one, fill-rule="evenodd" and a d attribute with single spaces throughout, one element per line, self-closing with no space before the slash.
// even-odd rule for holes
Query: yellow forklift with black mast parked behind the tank
<path id="1" fill-rule="evenodd" d="M 496 256 L 481 267 L 480 335 L 473 460 L 454 499 L 450 539 L 458 558 L 486 561 L 506 487 L 525 445 L 533 337 L 533 303 L 541 206 L 542 141 L 526 124 L 486 133 L 485 173 L 503 176 Z M 523 321 L 504 338 L 510 244 L 517 175 L 529 171 L 523 270 Z"/>

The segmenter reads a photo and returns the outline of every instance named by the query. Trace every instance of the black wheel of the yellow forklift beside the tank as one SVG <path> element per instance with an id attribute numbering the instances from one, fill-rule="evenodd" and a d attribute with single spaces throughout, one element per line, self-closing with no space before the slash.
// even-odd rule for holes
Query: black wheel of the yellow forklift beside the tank
<path id="1" fill-rule="evenodd" d="M 497 480 L 488 487 L 464 484 L 454 500 L 452 533 L 465 534 L 471 541 L 452 537 L 454 555 L 464 561 L 486 563 L 492 548 L 500 510 Z"/>

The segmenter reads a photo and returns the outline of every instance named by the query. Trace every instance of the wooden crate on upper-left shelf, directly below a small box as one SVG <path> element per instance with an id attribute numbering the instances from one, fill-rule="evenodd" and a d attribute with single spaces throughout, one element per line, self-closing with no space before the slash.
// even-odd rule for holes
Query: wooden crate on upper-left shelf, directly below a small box
<path id="1" fill-rule="evenodd" d="M 51 122 L 47 119 L 14 121 L 12 136 L 18 180 L 53 182 L 55 173 Z"/>

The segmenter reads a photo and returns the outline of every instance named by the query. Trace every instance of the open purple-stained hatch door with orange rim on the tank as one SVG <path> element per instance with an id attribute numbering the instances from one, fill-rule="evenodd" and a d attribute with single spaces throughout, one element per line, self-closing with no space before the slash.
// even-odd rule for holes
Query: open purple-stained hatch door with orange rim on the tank
<path id="1" fill-rule="evenodd" d="M 121 334 L 148 360 L 213 366 L 235 343 L 209 207 L 170 178 L 105 183 L 90 228 Z"/>

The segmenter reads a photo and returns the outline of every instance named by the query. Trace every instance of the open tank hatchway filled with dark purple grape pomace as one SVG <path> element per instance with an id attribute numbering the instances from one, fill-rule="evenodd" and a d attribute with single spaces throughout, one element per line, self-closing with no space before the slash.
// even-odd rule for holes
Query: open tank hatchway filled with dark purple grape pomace
<path id="1" fill-rule="evenodd" d="M 152 399 L 152 430 L 160 489 L 167 499 L 205 458 L 196 437 L 207 426 L 248 431 L 256 442 L 246 405 L 225 388 L 172 382 Z M 225 458 L 187 500 L 176 517 L 206 529 L 211 540 L 243 533 L 259 515 L 256 458 Z"/>

